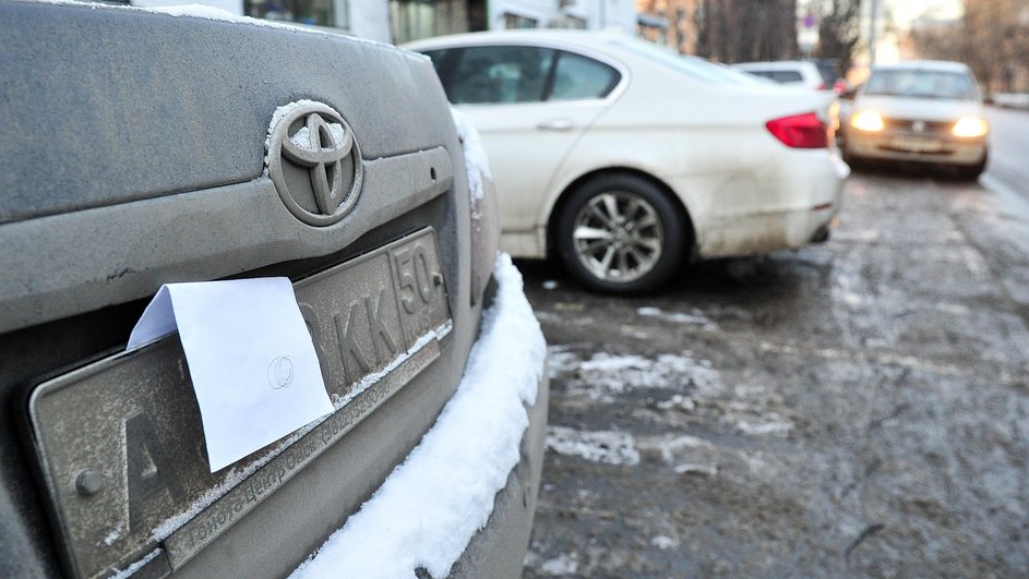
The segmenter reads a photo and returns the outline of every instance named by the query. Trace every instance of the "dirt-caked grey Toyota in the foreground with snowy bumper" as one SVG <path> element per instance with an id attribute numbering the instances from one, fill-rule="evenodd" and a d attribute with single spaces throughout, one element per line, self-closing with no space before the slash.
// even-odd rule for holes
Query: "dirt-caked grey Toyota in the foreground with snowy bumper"
<path id="1" fill-rule="evenodd" d="M 285 577 L 358 520 L 383 572 L 519 575 L 546 345 L 431 64 L 189 11 L 0 3 L 0 577 Z M 127 339 L 164 284 L 268 277 L 332 409 L 218 470 L 180 337 Z"/>

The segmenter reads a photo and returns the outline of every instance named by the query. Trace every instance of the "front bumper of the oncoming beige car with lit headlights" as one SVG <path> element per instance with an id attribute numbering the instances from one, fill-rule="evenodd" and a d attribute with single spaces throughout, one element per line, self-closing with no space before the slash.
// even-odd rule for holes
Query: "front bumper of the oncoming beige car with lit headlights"
<path id="1" fill-rule="evenodd" d="M 906 134 L 869 134 L 851 130 L 847 134 L 847 154 L 862 159 L 978 165 L 986 155 L 984 138 L 955 140 L 938 135 L 921 137 Z"/>

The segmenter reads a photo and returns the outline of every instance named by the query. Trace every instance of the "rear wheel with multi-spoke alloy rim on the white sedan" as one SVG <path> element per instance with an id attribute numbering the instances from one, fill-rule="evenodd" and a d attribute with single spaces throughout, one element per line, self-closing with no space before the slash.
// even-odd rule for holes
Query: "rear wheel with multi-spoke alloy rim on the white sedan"
<path id="1" fill-rule="evenodd" d="M 683 256 L 681 209 L 663 189 L 634 174 L 607 174 L 577 188 L 557 221 L 569 272 L 605 293 L 645 293 L 663 285 Z"/>

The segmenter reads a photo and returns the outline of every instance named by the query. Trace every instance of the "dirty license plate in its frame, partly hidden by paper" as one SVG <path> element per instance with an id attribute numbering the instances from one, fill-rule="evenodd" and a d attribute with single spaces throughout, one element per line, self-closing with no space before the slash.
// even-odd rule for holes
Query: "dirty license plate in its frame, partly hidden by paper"
<path id="1" fill-rule="evenodd" d="M 431 228 L 294 288 L 336 411 L 217 473 L 177 336 L 35 388 L 40 470 L 76 576 L 178 568 L 435 360 L 451 327 Z"/>

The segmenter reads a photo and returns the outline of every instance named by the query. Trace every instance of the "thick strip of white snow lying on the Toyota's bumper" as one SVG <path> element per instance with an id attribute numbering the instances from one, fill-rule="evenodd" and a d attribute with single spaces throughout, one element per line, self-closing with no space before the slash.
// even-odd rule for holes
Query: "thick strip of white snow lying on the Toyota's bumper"
<path id="1" fill-rule="evenodd" d="M 500 255 L 496 299 L 483 314 L 457 393 L 379 491 L 292 578 L 445 577 L 493 509 L 519 459 L 547 355 L 511 257 Z"/>

